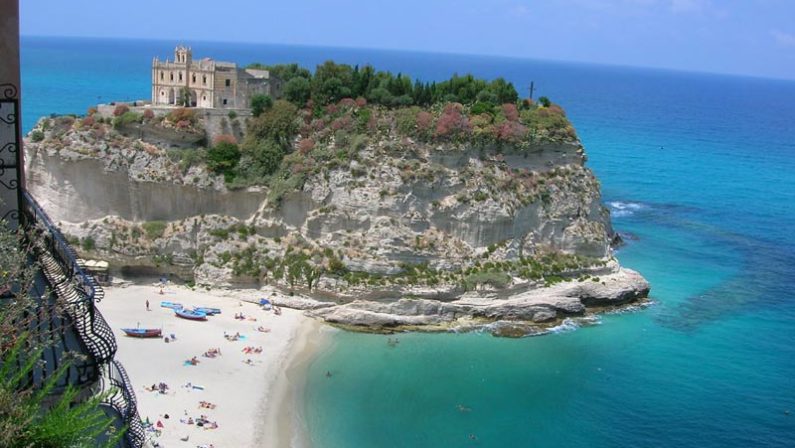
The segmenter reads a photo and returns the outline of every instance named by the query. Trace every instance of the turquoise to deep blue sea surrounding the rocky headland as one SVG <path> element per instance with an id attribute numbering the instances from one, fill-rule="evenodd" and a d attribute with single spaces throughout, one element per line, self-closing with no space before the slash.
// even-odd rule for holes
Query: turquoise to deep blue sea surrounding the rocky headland
<path id="1" fill-rule="evenodd" d="M 149 98 L 174 41 L 22 38 L 25 130 Z M 302 409 L 316 447 L 795 446 L 795 82 L 488 56 L 190 42 L 241 64 L 333 59 L 505 77 L 560 103 L 652 304 L 520 339 L 336 332 Z M 331 372 L 327 377 L 325 372 Z"/>

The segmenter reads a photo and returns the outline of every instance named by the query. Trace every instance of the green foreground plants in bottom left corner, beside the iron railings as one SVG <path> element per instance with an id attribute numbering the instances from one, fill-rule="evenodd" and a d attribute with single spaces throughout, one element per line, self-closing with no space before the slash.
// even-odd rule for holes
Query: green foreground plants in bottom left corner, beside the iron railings
<path id="1" fill-rule="evenodd" d="M 26 237 L 0 220 L 0 292 L 12 296 L 0 307 L 0 446 L 96 447 L 96 438 L 112 430 L 113 419 L 99 408 L 106 397 L 85 399 L 74 387 L 56 395 L 55 388 L 70 367 L 68 360 L 62 358 L 58 369 L 37 387 L 29 382 L 41 368 L 44 351 L 59 336 L 39 323 L 56 319 L 61 312 L 58 306 L 46 305 L 49 301 L 28 296 L 38 270 L 30 262 L 32 253 Z M 116 446 L 123 435 L 123 431 L 110 434 L 105 446 Z"/>

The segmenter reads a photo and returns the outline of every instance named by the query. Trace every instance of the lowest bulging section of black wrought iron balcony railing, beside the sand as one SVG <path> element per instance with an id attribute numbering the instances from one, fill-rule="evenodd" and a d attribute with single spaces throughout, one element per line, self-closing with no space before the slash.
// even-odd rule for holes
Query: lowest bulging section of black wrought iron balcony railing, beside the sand
<path id="1" fill-rule="evenodd" d="M 113 408 L 121 416 L 121 420 L 127 427 L 124 439 L 128 446 L 142 447 L 146 439 L 144 427 L 141 424 L 141 417 L 138 415 L 138 405 L 135 399 L 130 378 L 121 363 L 112 361 L 107 365 L 107 372 L 102 377 L 103 391 L 109 391 L 110 395 L 105 398 L 103 404 Z"/>

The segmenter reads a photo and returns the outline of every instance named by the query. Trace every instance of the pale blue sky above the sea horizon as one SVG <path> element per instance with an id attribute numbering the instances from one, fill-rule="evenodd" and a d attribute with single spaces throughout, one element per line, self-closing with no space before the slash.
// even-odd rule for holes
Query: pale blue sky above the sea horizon
<path id="1" fill-rule="evenodd" d="M 30 36 L 485 54 L 795 79 L 795 0 L 22 0 Z"/>

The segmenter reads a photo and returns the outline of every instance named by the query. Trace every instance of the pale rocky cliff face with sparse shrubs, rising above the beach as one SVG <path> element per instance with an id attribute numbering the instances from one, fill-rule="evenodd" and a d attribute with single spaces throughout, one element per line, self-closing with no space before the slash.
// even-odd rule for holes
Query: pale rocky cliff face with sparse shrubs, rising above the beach
<path id="1" fill-rule="evenodd" d="M 280 171 L 247 185 L 211 172 L 203 148 L 43 119 L 26 144 L 28 188 L 116 270 L 312 291 L 334 304 L 316 314 L 340 324 L 547 322 L 647 295 L 612 259 L 609 213 L 572 129 L 423 138 L 399 114 L 365 121 L 349 106 L 299 114 Z"/>

